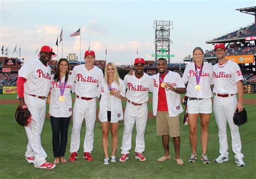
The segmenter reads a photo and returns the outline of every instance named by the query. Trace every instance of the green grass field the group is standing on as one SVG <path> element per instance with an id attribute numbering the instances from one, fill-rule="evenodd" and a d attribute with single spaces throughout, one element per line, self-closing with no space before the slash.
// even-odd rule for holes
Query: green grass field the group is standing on
<path id="1" fill-rule="evenodd" d="M 17 95 L 0 95 L 2 99 L 15 99 Z M 244 98 L 256 98 L 255 94 L 246 94 Z M 125 103 L 123 103 L 125 104 Z M 132 149 L 130 159 L 125 163 L 111 163 L 108 166 L 103 165 L 102 149 L 102 130 L 99 121 L 95 124 L 95 141 L 92 152 L 93 161 L 86 162 L 83 159 L 83 142 L 85 127 L 83 124 L 81 131 L 80 150 L 76 162 L 58 164 L 55 169 L 45 170 L 36 169 L 33 164 L 25 161 L 26 133 L 22 126 L 19 126 L 14 119 L 14 112 L 17 104 L 0 105 L 0 178 L 255 178 L 256 168 L 256 105 L 245 104 L 244 107 L 248 113 L 248 123 L 240 127 L 242 141 L 242 153 L 244 153 L 245 167 L 238 167 L 234 163 L 234 154 L 231 148 L 230 130 L 227 128 L 228 146 L 230 148 L 229 161 L 224 163 L 215 163 L 214 159 L 219 155 L 218 126 L 215 123 L 214 114 L 211 115 L 208 134 L 207 155 L 211 160 L 210 164 L 203 164 L 199 159 L 195 163 L 189 163 L 187 160 L 191 154 L 189 128 L 182 124 L 183 113 L 180 115 L 181 143 L 180 155 L 184 160 L 183 166 L 178 166 L 174 160 L 174 149 L 170 141 L 170 153 L 172 159 L 165 162 L 157 162 L 157 159 L 164 154 L 161 143 L 161 137 L 156 135 L 155 119 L 148 119 L 145 142 L 146 149 L 144 155 L 145 162 L 134 159 L 134 145 L 136 129 L 134 127 L 132 135 Z M 149 103 L 149 110 L 152 110 L 152 104 Z M 200 121 L 200 120 L 199 120 Z M 198 126 L 198 129 L 200 126 Z M 69 158 L 70 136 L 72 122 L 69 126 L 69 139 L 66 148 L 66 159 Z M 117 156 L 120 156 L 120 147 L 122 145 L 122 135 L 124 130 L 123 121 L 120 123 L 118 132 Z M 53 162 L 52 154 L 52 131 L 50 120 L 46 119 L 42 132 L 42 146 L 48 154 L 48 161 Z M 198 131 L 200 137 L 200 130 Z M 109 140 L 111 141 L 111 140 Z M 111 142 L 109 142 L 111 144 Z M 111 146 L 109 147 L 109 154 Z M 201 154 L 200 138 L 198 138 L 198 155 Z"/>

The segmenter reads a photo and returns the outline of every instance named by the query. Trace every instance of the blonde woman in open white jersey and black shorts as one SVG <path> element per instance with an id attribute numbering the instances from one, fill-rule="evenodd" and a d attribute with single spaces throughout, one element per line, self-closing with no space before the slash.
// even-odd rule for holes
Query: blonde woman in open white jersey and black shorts
<path id="1" fill-rule="evenodd" d="M 121 99 L 125 96 L 125 85 L 118 75 L 114 63 L 107 63 L 105 67 L 104 80 L 99 85 L 99 121 L 102 124 L 102 146 L 105 155 L 103 164 L 109 164 L 109 127 L 111 126 L 112 153 L 111 162 L 116 162 L 117 130 L 119 121 L 123 117 Z"/>

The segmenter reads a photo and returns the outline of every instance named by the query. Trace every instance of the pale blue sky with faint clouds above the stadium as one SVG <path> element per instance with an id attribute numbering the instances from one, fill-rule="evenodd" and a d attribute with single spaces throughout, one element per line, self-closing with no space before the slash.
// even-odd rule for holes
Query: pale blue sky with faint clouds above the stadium
<path id="1" fill-rule="evenodd" d="M 235 9 L 252 1 L 1 1 L 0 42 L 9 57 L 21 47 L 25 61 L 37 57 L 43 45 L 53 47 L 63 26 L 63 57 L 80 56 L 80 39 L 69 37 L 81 26 L 82 56 L 89 46 L 97 60 L 131 64 L 137 57 L 154 60 L 154 20 L 171 20 L 171 62 L 179 62 L 196 46 L 212 49 L 206 40 L 252 24 L 254 16 Z M 62 44 L 58 47 L 62 58 Z M 56 58 L 55 58 L 56 59 Z M 83 60 L 83 59 L 82 59 Z"/>

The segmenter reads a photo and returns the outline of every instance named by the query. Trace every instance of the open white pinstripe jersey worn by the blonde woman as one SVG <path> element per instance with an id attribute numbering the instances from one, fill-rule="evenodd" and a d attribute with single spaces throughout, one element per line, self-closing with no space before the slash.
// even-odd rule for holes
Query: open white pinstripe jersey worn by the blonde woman
<path id="1" fill-rule="evenodd" d="M 107 103 L 111 103 L 111 123 L 117 123 L 119 120 L 124 118 L 122 101 L 121 99 L 111 96 L 111 102 L 107 102 L 107 90 L 109 87 L 105 80 L 99 85 L 99 94 L 102 95 L 99 102 L 99 121 L 105 122 L 107 121 Z M 117 91 L 118 94 L 125 96 L 125 85 L 124 81 L 119 78 L 119 86 L 113 81 L 111 84 L 112 91 Z"/>

